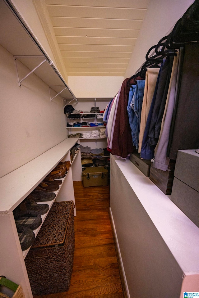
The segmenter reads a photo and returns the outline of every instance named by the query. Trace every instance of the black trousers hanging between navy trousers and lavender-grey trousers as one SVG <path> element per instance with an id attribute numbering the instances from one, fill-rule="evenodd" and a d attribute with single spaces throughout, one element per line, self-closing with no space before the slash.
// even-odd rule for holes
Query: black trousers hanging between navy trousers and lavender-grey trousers
<path id="1" fill-rule="evenodd" d="M 157 95 L 155 98 L 155 105 L 153 108 L 153 114 L 149 128 L 150 146 L 156 145 L 160 136 L 161 122 L 162 117 L 164 115 L 164 108 L 169 90 L 169 82 L 171 78 L 173 62 L 174 56 L 167 56 L 165 63 L 162 67 Z"/>

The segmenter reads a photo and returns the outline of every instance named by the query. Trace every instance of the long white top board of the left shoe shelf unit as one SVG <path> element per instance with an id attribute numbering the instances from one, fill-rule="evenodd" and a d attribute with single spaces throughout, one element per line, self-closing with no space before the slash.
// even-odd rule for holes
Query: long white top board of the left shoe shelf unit
<path id="1" fill-rule="evenodd" d="M 27 164 L 0 178 L 0 215 L 10 214 L 54 169 L 78 140 L 79 138 L 67 138 Z"/>

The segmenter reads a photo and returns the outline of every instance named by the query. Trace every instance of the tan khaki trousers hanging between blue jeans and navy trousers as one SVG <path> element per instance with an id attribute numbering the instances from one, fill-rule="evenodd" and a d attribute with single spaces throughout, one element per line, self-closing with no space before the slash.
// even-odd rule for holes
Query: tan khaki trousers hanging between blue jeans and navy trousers
<path id="1" fill-rule="evenodd" d="M 141 152 L 142 140 L 144 136 L 144 130 L 146 127 L 146 121 L 149 115 L 150 105 L 153 99 L 155 91 L 155 84 L 157 82 L 160 68 L 148 68 L 146 71 L 144 97 L 142 102 L 141 120 L 140 120 L 140 134 L 138 142 L 138 153 Z"/>

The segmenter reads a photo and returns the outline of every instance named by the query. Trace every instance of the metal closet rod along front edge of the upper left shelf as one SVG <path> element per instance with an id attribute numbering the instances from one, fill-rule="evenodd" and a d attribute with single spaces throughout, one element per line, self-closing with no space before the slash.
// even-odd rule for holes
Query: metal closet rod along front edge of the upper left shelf
<path id="1" fill-rule="evenodd" d="M 67 86 L 67 84 L 65 83 L 64 79 L 61 77 L 61 75 L 58 73 L 57 69 L 54 67 L 54 65 L 52 64 L 52 61 L 49 59 L 49 57 L 46 55 L 46 53 L 44 52 L 44 50 L 42 49 L 42 47 L 39 45 L 39 43 L 36 41 L 35 37 L 33 36 L 33 34 L 31 33 L 31 31 L 29 30 L 29 28 L 27 27 L 27 25 L 24 23 L 23 19 L 21 18 L 21 16 L 19 15 L 18 11 L 16 10 L 16 8 L 13 6 L 12 2 L 10 0 L 3 0 L 6 5 L 9 7 L 9 9 L 12 11 L 12 13 L 14 14 L 14 16 L 17 18 L 17 20 L 20 22 L 21 26 L 25 29 L 25 31 L 28 33 L 28 35 L 30 36 L 30 38 L 32 39 L 32 41 L 35 43 L 35 45 L 39 48 L 40 52 L 42 53 L 42 55 L 45 57 L 46 61 L 51 65 L 51 67 L 53 68 L 54 72 L 56 73 L 56 75 L 58 75 L 59 79 L 62 81 L 62 83 L 66 86 L 66 88 L 68 89 L 68 91 L 71 93 L 72 97 L 74 97 L 74 99 L 76 100 L 75 95 L 73 94 L 73 92 L 70 90 L 70 88 Z"/>

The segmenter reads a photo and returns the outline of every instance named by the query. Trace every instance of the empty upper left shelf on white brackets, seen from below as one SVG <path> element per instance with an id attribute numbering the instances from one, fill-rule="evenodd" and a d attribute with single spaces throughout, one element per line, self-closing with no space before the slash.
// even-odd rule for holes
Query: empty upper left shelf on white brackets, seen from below
<path id="1" fill-rule="evenodd" d="M 0 35 L 0 44 L 13 56 L 27 56 L 18 57 L 17 59 L 30 70 L 34 69 L 44 58 L 52 62 L 39 44 L 38 39 L 15 10 L 15 7 L 12 7 L 11 11 L 3 1 L 0 1 L 0 26 L 3 28 Z M 28 56 L 35 56 L 35 58 Z M 57 93 L 62 90 L 62 87 L 68 87 L 56 66 L 54 64 L 50 65 L 47 61 L 36 69 L 34 73 L 48 86 L 53 86 L 52 89 Z M 75 98 L 72 91 L 68 89 L 65 89 L 61 95 L 68 99 Z"/>

